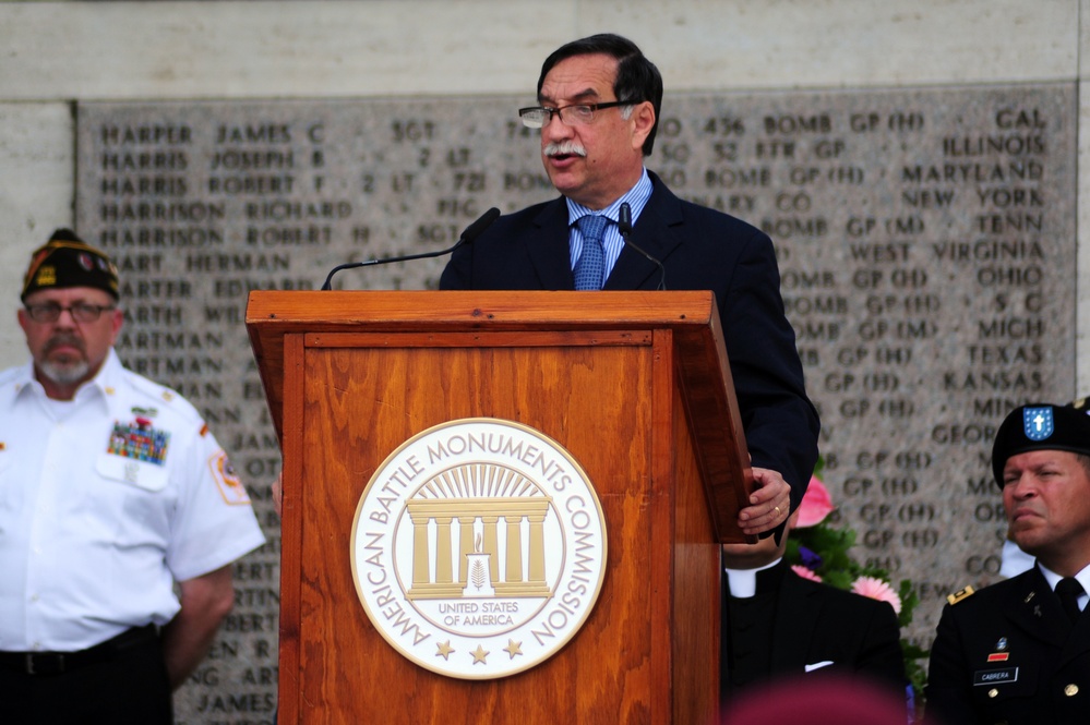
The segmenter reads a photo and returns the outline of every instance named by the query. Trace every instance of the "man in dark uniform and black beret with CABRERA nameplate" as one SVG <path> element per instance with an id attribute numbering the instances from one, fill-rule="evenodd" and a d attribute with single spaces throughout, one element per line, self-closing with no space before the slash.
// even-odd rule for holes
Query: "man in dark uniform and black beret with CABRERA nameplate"
<path id="1" fill-rule="evenodd" d="M 927 711 L 951 725 L 1090 722 L 1090 415 L 1077 404 L 1016 409 L 992 468 L 1009 535 L 1037 563 L 948 597 Z"/>

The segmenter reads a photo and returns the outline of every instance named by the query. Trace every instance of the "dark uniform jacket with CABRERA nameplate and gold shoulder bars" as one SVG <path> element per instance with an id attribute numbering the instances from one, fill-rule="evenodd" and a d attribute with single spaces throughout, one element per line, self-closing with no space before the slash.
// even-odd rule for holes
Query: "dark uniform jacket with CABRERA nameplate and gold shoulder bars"
<path id="1" fill-rule="evenodd" d="M 1073 628 L 1037 567 L 948 604 L 926 696 L 949 725 L 1090 723 L 1090 615 Z"/>

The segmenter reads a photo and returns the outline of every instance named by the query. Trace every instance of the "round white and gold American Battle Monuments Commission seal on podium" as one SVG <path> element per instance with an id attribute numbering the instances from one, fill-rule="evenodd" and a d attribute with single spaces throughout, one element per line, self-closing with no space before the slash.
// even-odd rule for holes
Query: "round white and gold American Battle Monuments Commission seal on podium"
<path id="1" fill-rule="evenodd" d="M 496 419 L 423 431 L 382 463 L 356 510 L 352 578 L 403 655 L 466 679 L 556 653 L 606 573 L 601 505 L 552 438 Z"/>

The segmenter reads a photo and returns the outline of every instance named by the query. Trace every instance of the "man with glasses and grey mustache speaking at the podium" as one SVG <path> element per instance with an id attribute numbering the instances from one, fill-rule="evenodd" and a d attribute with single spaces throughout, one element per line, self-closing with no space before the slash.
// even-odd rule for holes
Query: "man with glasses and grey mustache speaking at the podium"
<path id="1" fill-rule="evenodd" d="M 746 534 L 780 527 L 817 460 L 806 397 L 783 314 L 771 240 L 726 214 L 684 202 L 644 168 L 658 128 L 662 77 L 626 38 L 568 43 L 546 59 L 541 158 L 561 198 L 502 216 L 443 271 L 448 290 L 711 290 L 753 475 Z"/>

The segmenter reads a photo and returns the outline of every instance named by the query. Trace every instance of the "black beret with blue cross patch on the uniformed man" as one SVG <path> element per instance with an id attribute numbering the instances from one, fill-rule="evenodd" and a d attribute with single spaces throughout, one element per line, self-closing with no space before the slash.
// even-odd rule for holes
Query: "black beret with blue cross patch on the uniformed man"
<path id="1" fill-rule="evenodd" d="M 992 473 L 1001 488 L 1007 459 L 1028 450 L 1066 450 L 1090 456 L 1090 410 L 1085 399 L 1066 406 L 1035 402 L 1010 411 L 992 446 Z"/>

